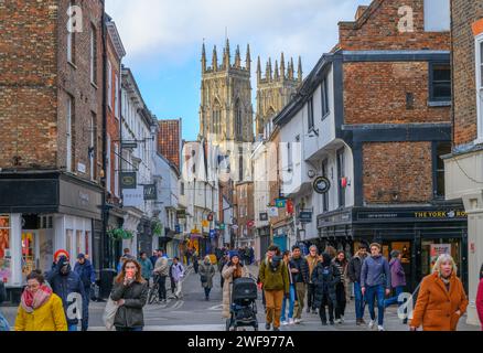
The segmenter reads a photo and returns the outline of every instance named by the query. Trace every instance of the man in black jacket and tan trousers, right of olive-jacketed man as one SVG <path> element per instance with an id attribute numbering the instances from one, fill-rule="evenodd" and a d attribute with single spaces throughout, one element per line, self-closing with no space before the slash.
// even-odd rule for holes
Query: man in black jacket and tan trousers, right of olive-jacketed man
<path id="1" fill-rule="evenodd" d="M 297 291 L 297 306 L 293 313 L 296 323 L 300 323 L 302 319 L 303 304 L 307 292 L 307 284 L 309 282 L 309 263 L 302 257 L 302 252 L 298 245 L 292 247 L 292 259 L 290 261 L 293 282 Z"/>

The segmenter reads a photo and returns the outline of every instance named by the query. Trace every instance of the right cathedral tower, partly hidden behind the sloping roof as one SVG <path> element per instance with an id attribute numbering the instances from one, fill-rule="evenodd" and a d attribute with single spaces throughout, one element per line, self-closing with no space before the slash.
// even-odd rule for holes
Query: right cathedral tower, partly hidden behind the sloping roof
<path id="1" fill-rule="evenodd" d="M 302 83 L 302 60 L 299 56 L 297 77 L 294 74 L 293 58 L 287 63 L 283 53 L 280 57 L 280 69 L 278 61 L 275 62 L 275 69 L 271 66 L 271 58 L 268 60 L 265 77 L 261 73 L 260 57 L 257 63 L 257 135 L 262 135 L 265 126 L 290 101 L 292 95 Z"/>

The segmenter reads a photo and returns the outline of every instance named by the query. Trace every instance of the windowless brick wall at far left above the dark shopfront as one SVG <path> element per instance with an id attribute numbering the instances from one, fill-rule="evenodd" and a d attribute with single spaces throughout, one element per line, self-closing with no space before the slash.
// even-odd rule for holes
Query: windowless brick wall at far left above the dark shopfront
<path id="1" fill-rule="evenodd" d="M 56 167 L 56 3 L 0 1 L 3 169 Z"/>

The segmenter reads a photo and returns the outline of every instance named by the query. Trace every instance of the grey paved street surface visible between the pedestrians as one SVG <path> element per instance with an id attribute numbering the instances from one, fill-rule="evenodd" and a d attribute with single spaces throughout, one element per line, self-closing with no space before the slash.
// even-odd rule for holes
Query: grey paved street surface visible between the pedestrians
<path id="1" fill-rule="evenodd" d="M 249 266 L 253 275 L 258 274 L 256 266 Z M 169 287 L 169 281 L 167 281 Z M 225 331 L 225 319 L 222 318 L 222 288 L 219 286 L 219 272 L 214 278 L 211 300 L 205 301 L 200 276 L 194 274 L 192 267 L 187 268 L 183 281 L 183 297 L 179 300 L 169 299 L 164 304 L 147 304 L 144 307 L 144 331 Z M 169 291 L 171 293 L 171 291 Z M 106 331 L 103 323 L 103 312 L 106 302 L 90 302 L 89 306 L 89 331 Z M 265 315 L 261 303 L 261 293 L 257 300 L 259 330 L 265 331 Z M 13 325 L 17 308 L 2 307 L 2 313 Z M 365 320 L 368 322 L 366 310 Z M 386 331 L 408 331 L 408 327 L 397 315 L 397 307 L 386 309 Z M 247 331 L 253 330 L 247 328 Z M 371 331 L 367 327 L 355 324 L 354 301 L 347 303 L 345 322 L 342 324 L 322 327 L 318 314 L 303 311 L 300 324 L 286 325 L 281 331 Z M 480 331 L 479 327 L 468 325 L 465 318 L 460 320 L 459 331 Z"/>

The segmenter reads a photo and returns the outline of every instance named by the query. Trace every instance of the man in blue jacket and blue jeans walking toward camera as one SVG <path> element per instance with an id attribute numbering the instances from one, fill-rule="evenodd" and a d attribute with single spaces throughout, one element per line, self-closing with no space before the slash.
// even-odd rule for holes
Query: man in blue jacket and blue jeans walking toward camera
<path id="1" fill-rule="evenodd" d="M 380 254 L 380 245 L 377 243 L 371 244 L 371 256 L 364 260 L 362 266 L 361 287 L 369 306 L 369 329 L 375 325 L 374 306 L 377 298 L 377 330 L 384 331 L 384 300 L 390 293 L 390 269 L 389 263 Z"/>

